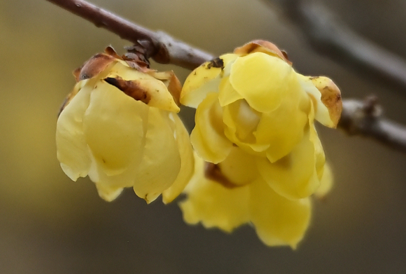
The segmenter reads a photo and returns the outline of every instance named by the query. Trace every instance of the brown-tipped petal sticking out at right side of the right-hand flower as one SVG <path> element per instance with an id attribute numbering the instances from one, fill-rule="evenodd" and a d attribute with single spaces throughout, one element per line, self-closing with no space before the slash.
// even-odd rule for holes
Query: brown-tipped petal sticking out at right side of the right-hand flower
<path id="1" fill-rule="evenodd" d="M 343 110 L 343 101 L 339 87 L 337 87 L 331 79 L 324 76 L 311 77 L 310 80 L 320 91 L 321 101 L 324 106 L 327 107 L 330 119 L 334 127 L 336 127 Z"/>

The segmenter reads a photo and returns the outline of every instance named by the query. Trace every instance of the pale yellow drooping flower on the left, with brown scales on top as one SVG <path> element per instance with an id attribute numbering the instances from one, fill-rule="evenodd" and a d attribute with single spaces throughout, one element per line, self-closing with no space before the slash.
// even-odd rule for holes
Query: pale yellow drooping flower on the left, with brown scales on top
<path id="1" fill-rule="evenodd" d="M 76 71 L 56 126 L 57 156 L 72 180 L 89 178 L 103 199 L 133 187 L 148 203 L 177 197 L 193 173 L 189 134 L 178 117 L 180 83 L 111 49 Z M 174 99 L 175 97 L 175 99 Z"/>

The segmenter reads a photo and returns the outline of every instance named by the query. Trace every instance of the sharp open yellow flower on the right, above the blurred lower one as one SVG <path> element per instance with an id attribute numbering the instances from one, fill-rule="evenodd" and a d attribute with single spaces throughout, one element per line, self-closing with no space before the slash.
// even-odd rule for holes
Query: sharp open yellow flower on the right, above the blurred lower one
<path id="1" fill-rule="evenodd" d="M 296 73 L 272 43 L 254 41 L 202 64 L 180 101 L 197 108 L 191 142 L 204 160 L 220 163 L 238 147 L 257 156 L 262 178 L 286 198 L 319 187 L 325 159 L 314 119 L 336 126 L 340 90 L 328 78 Z"/>

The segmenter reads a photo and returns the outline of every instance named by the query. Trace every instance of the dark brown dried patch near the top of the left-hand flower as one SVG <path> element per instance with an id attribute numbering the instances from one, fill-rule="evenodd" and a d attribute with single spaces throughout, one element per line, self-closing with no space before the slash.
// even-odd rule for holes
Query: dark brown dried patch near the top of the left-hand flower
<path id="1" fill-rule="evenodd" d="M 107 83 L 117 87 L 119 90 L 127 94 L 128 96 L 142 101 L 145 104 L 151 100 L 151 95 L 148 90 L 145 90 L 139 83 L 138 80 L 124 80 L 121 77 L 117 76 L 116 78 L 108 77 L 104 79 Z"/>

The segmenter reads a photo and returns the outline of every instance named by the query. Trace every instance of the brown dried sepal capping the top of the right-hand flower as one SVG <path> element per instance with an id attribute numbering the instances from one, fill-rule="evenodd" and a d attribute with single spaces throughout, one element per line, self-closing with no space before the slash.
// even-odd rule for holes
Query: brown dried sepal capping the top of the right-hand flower
<path id="1" fill-rule="evenodd" d="M 288 55 L 286 52 L 281 51 L 275 44 L 270 43 L 268 41 L 264 40 L 254 40 L 251 42 L 248 42 L 244 46 L 238 47 L 234 49 L 235 54 L 249 54 L 249 53 L 254 53 L 254 52 L 263 52 L 266 54 L 271 54 L 276 57 L 279 57 L 283 60 L 285 60 L 288 64 L 292 65 L 292 62 L 289 61 Z"/>

